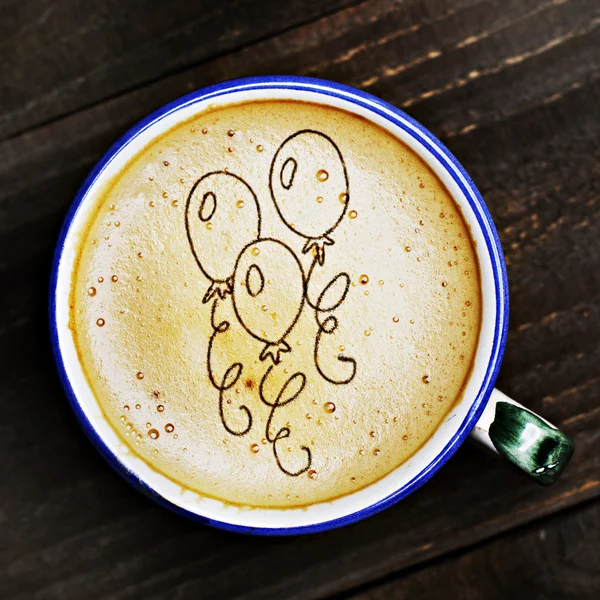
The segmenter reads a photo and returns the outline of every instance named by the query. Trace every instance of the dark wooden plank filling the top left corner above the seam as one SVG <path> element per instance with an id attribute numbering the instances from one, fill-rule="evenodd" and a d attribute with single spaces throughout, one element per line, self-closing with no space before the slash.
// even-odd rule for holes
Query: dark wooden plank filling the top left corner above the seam
<path id="1" fill-rule="evenodd" d="M 0 139 L 356 2 L 4 2 Z"/>

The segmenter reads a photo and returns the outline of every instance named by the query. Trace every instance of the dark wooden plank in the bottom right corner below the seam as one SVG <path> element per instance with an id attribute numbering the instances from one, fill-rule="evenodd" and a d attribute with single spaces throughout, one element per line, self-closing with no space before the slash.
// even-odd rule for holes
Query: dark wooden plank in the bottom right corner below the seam
<path id="1" fill-rule="evenodd" d="M 595 600 L 600 596 L 600 503 L 348 596 L 353 600 Z"/>

